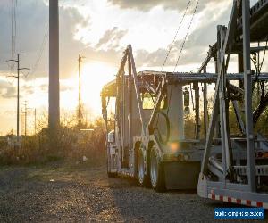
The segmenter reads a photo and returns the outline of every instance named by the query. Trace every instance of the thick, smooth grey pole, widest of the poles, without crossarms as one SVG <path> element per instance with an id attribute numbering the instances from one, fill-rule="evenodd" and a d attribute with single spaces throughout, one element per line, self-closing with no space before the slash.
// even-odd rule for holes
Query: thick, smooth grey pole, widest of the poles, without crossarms
<path id="1" fill-rule="evenodd" d="M 48 128 L 52 146 L 55 146 L 57 128 L 60 124 L 59 81 L 59 3 L 49 0 L 49 111 Z M 54 141 L 54 142 L 53 142 Z"/>

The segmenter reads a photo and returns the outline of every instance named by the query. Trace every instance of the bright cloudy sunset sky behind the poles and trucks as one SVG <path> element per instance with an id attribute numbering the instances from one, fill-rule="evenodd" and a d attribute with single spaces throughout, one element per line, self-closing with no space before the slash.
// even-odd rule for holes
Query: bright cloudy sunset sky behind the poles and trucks
<path id="1" fill-rule="evenodd" d="M 227 25 L 231 3 L 231 0 L 200 1 L 178 71 L 197 70 L 205 58 L 208 45 L 213 45 L 216 40 L 216 25 Z M 251 1 L 251 4 L 254 3 Z M 89 119 L 93 117 L 89 113 L 100 115 L 101 87 L 114 78 L 121 53 L 128 44 L 133 47 L 137 70 L 161 70 L 187 4 L 188 1 L 180 0 L 60 0 L 63 113 L 74 112 L 78 104 L 79 54 L 85 56 L 82 101 Z M 192 1 L 165 70 L 174 68 L 195 4 Z M 16 80 L 7 78 L 13 74 L 9 67 L 12 64 L 5 62 L 12 58 L 11 12 L 12 0 L 1 0 L 0 135 L 15 129 L 16 124 Z M 21 67 L 31 69 L 27 78 L 23 78 L 27 71 L 21 74 L 21 105 L 27 101 L 28 107 L 36 108 L 41 115 L 46 112 L 48 104 L 48 1 L 17 0 L 16 12 L 16 52 L 24 53 Z M 44 51 L 41 50 L 43 42 Z M 32 117 L 32 110 L 29 110 L 29 115 Z"/>

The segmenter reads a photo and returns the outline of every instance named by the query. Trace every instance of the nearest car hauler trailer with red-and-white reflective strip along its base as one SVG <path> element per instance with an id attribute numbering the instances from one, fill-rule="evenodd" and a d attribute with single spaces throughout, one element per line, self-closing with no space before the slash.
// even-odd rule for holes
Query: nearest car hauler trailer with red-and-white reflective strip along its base
<path id="1" fill-rule="evenodd" d="M 258 1 L 251 9 L 249 5 L 249 0 L 233 1 L 229 26 L 218 26 L 217 43 L 200 68 L 200 71 L 204 70 L 207 62 L 214 58 L 218 77 L 214 93 L 214 110 L 205 140 L 197 193 L 204 198 L 267 209 L 268 141 L 256 132 L 255 125 L 258 120 L 262 121 L 260 117 L 264 111 L 267 111 L 268 105 L 268 95 L 264 94 L 264 86 L 268 79 L 260 73 L 263 62 L 259 62 L 260 57 L 258 57 L 260 51 L 267 49 L 268 1 Z M 253 47 L 254 43 L 264 41 L 266 41 L 265 46 L 258 44 Z M 226 75 L 230 54 L 239 54 L 239 72 L 243 73 L 243 78 L 239 81 L 242 98 L 237 100 L 240 106 L 239 103 L 234 103 L 237 111 L 239 108 L 245 111 L 243 118 L 241 115 L 238 116 L 240 117 L 238 119 L 239 137 L 230 134 L 229 103 L 232 94 Z M 251 69 L 252 64 L 255 64 L 255 75 Z M 258 86 L 256 82 L 260 78 L 263 81 L 259 99 L 256 95 L 253 97 L 253 93 Z M 214 149 L 214 129 L 218 120 L 221 126 L 222 154 L 220 157 L 214 157 L 211 152 Z M 235 146 L 245 151 L 246 161 L 236 163 L 233 160 Z"/>

